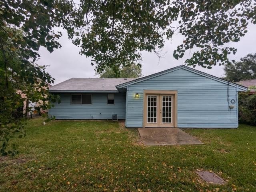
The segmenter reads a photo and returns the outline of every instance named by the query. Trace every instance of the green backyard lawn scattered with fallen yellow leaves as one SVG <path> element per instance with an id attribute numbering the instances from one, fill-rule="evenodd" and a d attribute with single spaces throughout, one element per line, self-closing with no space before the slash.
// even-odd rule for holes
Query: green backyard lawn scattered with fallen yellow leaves
<path id="1" fill-rule="evenodd" d="M 256 127 L 185 129 L 204 145 L 143 146 L 117 122 L 29 120 L 19 152 L 0 159 L 0 191 L 256 191 Z M 212 170 L 223 186 L 203 182 Z"/>

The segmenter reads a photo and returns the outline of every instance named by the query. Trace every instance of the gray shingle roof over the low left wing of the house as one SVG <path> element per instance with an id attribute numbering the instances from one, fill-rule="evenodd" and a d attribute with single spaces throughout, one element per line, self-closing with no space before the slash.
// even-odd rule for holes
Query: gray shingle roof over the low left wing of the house
<path id="1" fill-rule="evenodd" d="M 71 78 L 50 87 L 50 92 L 57 91 L 117 91 L 116 85 L 136 78 Z"/>

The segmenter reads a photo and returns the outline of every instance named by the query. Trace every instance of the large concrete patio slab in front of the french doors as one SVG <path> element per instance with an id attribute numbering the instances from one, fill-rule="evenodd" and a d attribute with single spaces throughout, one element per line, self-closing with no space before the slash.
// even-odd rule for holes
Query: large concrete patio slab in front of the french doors
<path id="1" fill-rule="evenodd" d="M 144 145 L 198 145 L 203 144 L 179 128 L 138 128 Z"/>

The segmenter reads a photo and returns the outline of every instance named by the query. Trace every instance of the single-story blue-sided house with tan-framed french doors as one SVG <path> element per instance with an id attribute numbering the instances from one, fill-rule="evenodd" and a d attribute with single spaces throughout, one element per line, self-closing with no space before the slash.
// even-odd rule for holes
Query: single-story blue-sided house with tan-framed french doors
<path id="1" fill-rule="evenodd" d="M 142 78 L 71 78 L 50 87 L 56 119 L 125 119 L 128 128 L 237 128 L 247 88 L 181 65 Z"/>

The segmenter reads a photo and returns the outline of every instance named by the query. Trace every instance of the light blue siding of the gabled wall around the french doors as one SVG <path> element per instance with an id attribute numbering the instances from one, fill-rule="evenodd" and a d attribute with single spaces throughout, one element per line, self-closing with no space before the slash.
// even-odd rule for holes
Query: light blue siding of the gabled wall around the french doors
<path id="1" fill-rule="evenodd" d="M 128 86 L 126 126 L 143 126 L 143 90 L 177 90 L 177 118 L 180 128 L 236 128 L 237 102 L 228 110 L 227 84 L 178 69 Z M 140 97 L 135 98 L 139 93 Z M 230 100 L 236 88 L 229 86 Z M 231 104 L 231 103 L 230 103 Z"/>

